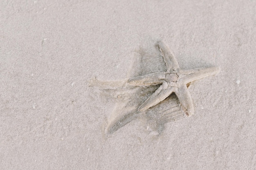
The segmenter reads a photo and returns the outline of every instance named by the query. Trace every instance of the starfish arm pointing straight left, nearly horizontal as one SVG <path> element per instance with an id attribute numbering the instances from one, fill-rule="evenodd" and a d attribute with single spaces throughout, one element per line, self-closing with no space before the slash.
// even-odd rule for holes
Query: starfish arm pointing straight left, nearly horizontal
<path id="1" fill-rule="evenodd" d="M 161 84 L 165 78 L 165 72 L 157 72 L 146 74 L 144 76 L 137 76 L 128 81 L 129 85 L 152 85 Z"/>

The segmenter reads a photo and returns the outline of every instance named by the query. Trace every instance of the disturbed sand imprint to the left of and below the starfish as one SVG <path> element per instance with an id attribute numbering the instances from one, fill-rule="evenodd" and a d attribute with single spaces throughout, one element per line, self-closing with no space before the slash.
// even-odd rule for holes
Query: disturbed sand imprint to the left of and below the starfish
<path id="1" fill-rule="evenodd" d="M 97 86 L 101 89 L 101 96 L 110 96 L 116 102 L 105 124 L 105 134 L 112 134 L 135 119 L 142 122 L 146 121 L 148 129 L 157 131 L 159 134 L 165 123 L 185 118 L 175 96 L 164 101 L 168 102 L 172 106 L 171 108 L 166 109 L 162 105 L 157 105 L 146 111 L 138 111 L 140 104 L 144 102 L 145 98 L 153 94 L 158 86 L 131 86 L 127 82 L 128 80 L 99 81 L 96 78 L 90 81 L 90 86 Z"/>

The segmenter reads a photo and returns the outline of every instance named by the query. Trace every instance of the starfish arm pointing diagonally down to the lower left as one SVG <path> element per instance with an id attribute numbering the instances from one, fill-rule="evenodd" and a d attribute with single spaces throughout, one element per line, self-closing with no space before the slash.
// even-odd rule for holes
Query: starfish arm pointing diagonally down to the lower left
<path id="1" fill-rule="evenodd" d="M 162 102 L 165 98 L 173 93 L 173 89 L 165 89 L 164 84 L 161 85 L 144 103 L 138 108 L 138 111 L 146 111 L 150 107 L 157 105 Z"/>

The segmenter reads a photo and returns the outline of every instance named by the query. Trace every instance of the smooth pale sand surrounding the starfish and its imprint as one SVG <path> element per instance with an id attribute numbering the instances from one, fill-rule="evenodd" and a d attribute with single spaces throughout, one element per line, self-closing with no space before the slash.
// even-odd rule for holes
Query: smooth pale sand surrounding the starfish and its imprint
<path id="1" fill-rule="evenodd" d="M 88 81 L 164 69 L 157 39 L 181 68 L 220 74 L 160 135 L 136 119 L 105 136 L 116 103 Z M 0 3 L 0 169 L 254 169 L 255 113 L 256 1 Z"/>

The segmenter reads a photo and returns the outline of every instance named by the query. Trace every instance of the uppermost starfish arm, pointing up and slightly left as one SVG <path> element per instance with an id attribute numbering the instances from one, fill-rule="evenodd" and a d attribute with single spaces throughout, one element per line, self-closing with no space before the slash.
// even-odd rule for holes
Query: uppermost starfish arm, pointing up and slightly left
<path id="1" fill-rule="evenodd" d="M 176 58 L 174 57 L 171 50 L 164 44 L 163 41 L 157 42 L 157 46 L 159 47 L 159 50 L 162 53 L 162 56 L 164 57 L 164 62 L 166 64 L 167 71 L 170 70 L 176 70 L 180 68 Z"/>

